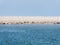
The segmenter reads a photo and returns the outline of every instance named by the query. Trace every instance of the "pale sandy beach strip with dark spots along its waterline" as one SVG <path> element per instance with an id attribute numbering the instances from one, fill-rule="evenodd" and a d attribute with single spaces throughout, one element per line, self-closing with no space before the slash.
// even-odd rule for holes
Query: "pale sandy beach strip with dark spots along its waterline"
<path id="1" fill-rule="evenodd" d="M 60 24 L 59 16 L 0 16 L 0 24 Z"/>

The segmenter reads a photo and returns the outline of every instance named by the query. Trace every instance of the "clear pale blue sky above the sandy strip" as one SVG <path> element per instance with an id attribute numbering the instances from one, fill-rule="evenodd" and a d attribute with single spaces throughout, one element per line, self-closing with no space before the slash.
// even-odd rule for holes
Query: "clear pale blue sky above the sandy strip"
<path id="1" fill-rule="evenodd" d="M 60 16 L 60 0 L 0 0 L 0 16 Z"/>

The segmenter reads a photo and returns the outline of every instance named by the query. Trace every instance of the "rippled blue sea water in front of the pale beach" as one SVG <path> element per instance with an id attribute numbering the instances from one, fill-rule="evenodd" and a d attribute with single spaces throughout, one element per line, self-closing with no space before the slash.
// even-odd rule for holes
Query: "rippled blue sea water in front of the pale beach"
<path id="1" fill-rule="evenodd" d="M 0 45 L 60 45 L 60 24 L 1 24 Z"/>

